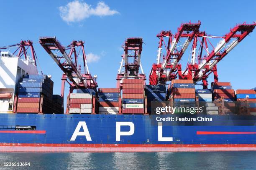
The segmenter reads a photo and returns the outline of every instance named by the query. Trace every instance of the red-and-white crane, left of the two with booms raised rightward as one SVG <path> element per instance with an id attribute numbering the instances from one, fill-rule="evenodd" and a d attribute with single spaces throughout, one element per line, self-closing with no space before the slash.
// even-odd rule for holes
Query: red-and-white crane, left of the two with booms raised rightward
<path id="1" fill-rule="evenodd" d="M 179 60 L 182 58 L 189 43 L 193 40 L 200 28 L 200 21 L 198 23 L 184 23 L 178 28 L 178 32 L 172 35 L 171 31 L 161 31 L 157 37 L 160 39 L 157 55 L 157 63 L 152 65 L 149 75 L 149 83 L 151 85 L 165 84 L 166 81 L 174 79 L 175 72 L 180 70 Z M 164 37 L 167 37 L 165 42 Z M 184 43 L 182 44 L 182 39 Z M 166 56 L 162 56 L 161 51 L 164 44 Z"/>

